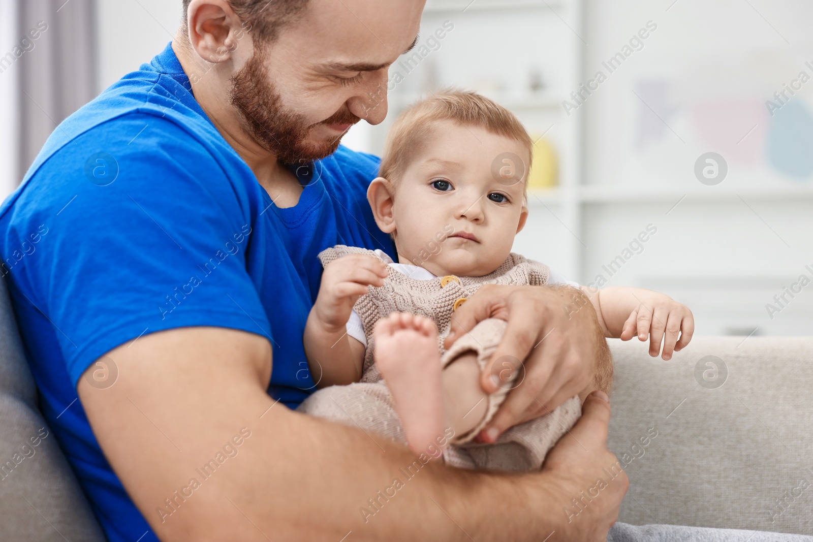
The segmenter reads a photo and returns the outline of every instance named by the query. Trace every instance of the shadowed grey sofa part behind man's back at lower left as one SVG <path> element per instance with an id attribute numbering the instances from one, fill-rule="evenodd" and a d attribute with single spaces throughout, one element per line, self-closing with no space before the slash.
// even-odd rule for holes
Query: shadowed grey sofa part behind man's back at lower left
<path id="1" fill-rule="evenodd" d="M 0 280 L 0 540 L 105 540 L 37 409 L 5 280 Z"/>

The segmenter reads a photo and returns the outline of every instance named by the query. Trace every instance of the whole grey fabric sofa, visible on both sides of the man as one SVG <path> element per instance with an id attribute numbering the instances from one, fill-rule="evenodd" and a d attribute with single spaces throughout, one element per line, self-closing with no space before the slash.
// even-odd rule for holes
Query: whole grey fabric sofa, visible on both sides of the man
<path id="1" fill-rule="evenodd" d="M 104 540 L 37 410 L 4 283 L 0 540 Z M 813 483 L 813 338 L 699 337 L 671 362 L 637 341 L 611 348 L 609 445 L 630 479 L 620 521 L 813 533 L 813 485 L 800 489 Z"/>

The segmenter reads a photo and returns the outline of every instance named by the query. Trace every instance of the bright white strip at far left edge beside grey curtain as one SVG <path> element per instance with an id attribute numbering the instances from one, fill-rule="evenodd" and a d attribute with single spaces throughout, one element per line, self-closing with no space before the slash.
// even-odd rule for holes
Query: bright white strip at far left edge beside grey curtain
<path id="1" fill-rule="evenodd" d="M 19 43 L 17 36 L 17 13 L 15 2 L 0 2 L 0 56 L 5 56 Z M 19 132 L 17 105 L 17 74 L 20 70 L 14 63 L 0 73 L 0 200 L 14 191 L 23 172 L 17 171 L 17 133 Z"/>

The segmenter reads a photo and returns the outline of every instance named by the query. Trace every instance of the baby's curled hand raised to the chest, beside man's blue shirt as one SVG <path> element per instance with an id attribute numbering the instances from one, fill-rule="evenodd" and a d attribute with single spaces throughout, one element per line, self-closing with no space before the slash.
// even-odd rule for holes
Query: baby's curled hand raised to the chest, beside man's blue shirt
<path id="1" fill-rule="evenodd" d="M 324 268 L 313 306 L 315 318 L 328 331 L 343 329 L 359 297 L 367 293 L 370 286 L 384 284 L 386 276 L 386 264 L 367 254 L 348 254 L 333 260 Z"/>

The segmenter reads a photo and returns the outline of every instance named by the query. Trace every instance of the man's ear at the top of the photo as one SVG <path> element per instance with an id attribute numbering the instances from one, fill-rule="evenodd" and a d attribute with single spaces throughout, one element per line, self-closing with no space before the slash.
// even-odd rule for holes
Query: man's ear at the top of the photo
<path id="1" fill-rule="evenodd" d="M 189 44 L 207 62 L 231 59 L 238 42 L 248 36 L 226 0 L 192 0 L 186 15 Z"/>

